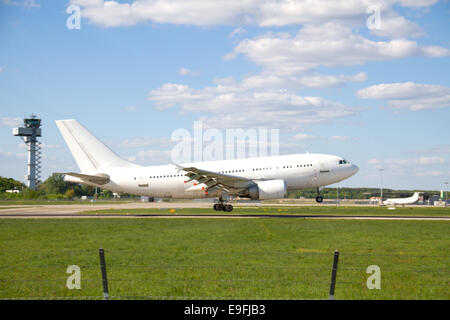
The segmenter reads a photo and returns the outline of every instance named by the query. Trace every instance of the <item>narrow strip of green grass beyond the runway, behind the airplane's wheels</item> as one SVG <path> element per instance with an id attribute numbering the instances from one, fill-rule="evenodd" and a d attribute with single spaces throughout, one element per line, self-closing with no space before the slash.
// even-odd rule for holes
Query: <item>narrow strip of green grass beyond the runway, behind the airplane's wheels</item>
<path id="1" fill-rule="evenodd" d="M 172 209 L 107 209 L 89 210 L 85 213 L 96 214 L 230 214 L 230 215 L 349 215 L 349 216 L 449 216 L 450 208 L 435 207 L 398 207 L 389 210 L 386 207 L 335 207 L 335 206 L 286 206 L 286 207 L 239 207 L 235 205 L 231 213 L 214 211 L 212 208 L 176 208 Z"/>

